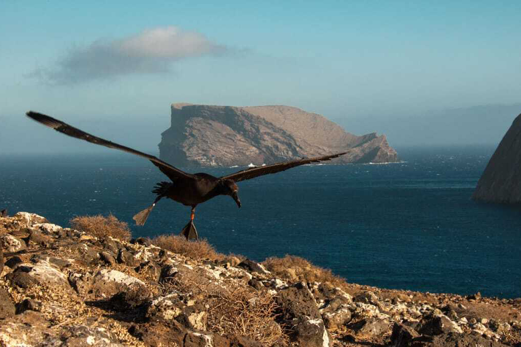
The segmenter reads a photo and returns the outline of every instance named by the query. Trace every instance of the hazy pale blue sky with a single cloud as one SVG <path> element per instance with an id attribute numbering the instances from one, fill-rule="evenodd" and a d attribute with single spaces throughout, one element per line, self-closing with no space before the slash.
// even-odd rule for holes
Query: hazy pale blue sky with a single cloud
<path id="1" fill-rule="evenodd" d="M 289 105 L 355 134 L 406 132 L 457 109 L 517 109 L 521 2 L 4 0 L 0 81 L 0 154 L 89 146 L 28 110 L 157 150 L 172 102 Z"/>

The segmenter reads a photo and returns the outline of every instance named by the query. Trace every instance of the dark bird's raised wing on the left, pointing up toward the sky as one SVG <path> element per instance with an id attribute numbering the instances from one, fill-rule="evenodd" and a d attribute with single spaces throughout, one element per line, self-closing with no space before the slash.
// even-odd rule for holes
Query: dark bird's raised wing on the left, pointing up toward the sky
<path id="1" fill-rule="evenodd" d="M 151 156 L 149 154 L 137 151 L 135 149 L 132 149 L 132 148 L 129 148 L 126 146 L 118 145 L 114 142 L 107 141 L 101 137 L 97 137 L 97 136 L 85 133 L 84 131 L 81 131 L 78 128 L 70 126 L 69 124 L 64 123 L 60 120 L 49 117 L 48 115 L 38 113 L 38 112 L 33 112 L 33 111 L 29 111 L 26 114 L 28 117 L 34 119 L 35 121 L 40 122 L 44 125 L 47 125 L 48 127 L 52 127 L 54 130 L 59 131 L 60 133 L 63 133 L 65 135 L 76 137 L 76 138 L 85 140 L 87 142 L 90 142 L 90 143 L 93 143 L 96 145 L 119 149 L 119 150 L 122 150 L 122 151 L 125 151 L 128 153 L 132 153 L 134 155 L 146 158 L 146 159 L 150 160 L 154 165 L 156 165 L 159 168 L 159 170 L 161 170 L 165 175 L 167 175 L 172 180 L 176 179 L 176 178 L 181 178 L 181 177 L 185 177 L 185 178 L 193 177 L 192 174 L 189 174 L 189 173 L 183 172 L 177 168 L 174 168 L 172 165 L 164 162 L 163 160 L 160 160 L 157 157 Z"/>

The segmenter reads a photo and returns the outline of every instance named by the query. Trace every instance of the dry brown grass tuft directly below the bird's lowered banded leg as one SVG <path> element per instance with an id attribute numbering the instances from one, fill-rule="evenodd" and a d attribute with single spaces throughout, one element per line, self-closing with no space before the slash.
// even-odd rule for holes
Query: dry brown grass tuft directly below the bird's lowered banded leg
<path id="1" fill-rule="evenodd" d="M 159 235 L 151 240 L 153 245 L 166 249 L 167 251 L 181 254 L 192 259 L 209 259 L 221 261 L 225 255 L 217 253 L 206 239 L 189 241 L 183 236 L 178 235 Z"/>

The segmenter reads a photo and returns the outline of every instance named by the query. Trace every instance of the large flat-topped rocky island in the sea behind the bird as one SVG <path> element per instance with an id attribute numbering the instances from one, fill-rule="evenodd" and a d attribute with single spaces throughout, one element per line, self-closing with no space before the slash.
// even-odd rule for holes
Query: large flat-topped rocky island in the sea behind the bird
<path id="1" fill-rule="evenodd" d="M 160 158 L 181 166 L 261 165 L 349 150 L 331 163 L 397 160 L 385 135 L 356 136 L 316 113 L 288 106 L 172 104 Z"/>

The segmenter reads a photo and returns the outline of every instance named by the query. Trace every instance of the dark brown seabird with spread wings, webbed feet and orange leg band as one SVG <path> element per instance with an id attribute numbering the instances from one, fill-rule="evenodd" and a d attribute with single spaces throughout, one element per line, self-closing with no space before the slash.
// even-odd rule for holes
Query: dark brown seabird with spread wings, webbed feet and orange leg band
<path id="1" fill-rule="evenodd" d="M 137 225 L 144 225 L 148 215 L 160 199 L 172 199 L 192 208 L 190 213 L 190 221 L 187 225 L 184 226 L 180 233 L 180 235 L 183 235 L 187 239 L 198 238 L 197 230 L 193 224 L 195 217 L 195 207 L 198 204 L 212 199 L 218 195 L 228 195 L 235 201 L 235 203 L 237 203 L 237 207 L 241 207 L 241 200 L 239 199 L 239 187 L 237 187 L 236 184 L 237 182 L 288 170 L 299 165 L 331 160 L 347 153 L 341 152 L 322 157 L 302 158 L 271 165 L 255 166 L 253 168 L 241 170 L 230 175 L 215 177 L 207 173 L 191 174 L 184 172 L 157 157 L 148 155 L 130 147 L 116 144 L 101 137 L 85 133 L 76 127 L 73 127 L 55 118 L 49 117 L 45 114 L 33 111 L 29 111 L 26 114 L 33 120 L 40 122 L 48 127 L 52 127 L 54 130 L 65 135 L 76 137 L 96 145 L 119 149 L 150 160 L 152 164 L 156 165 L 161 172 L 170 178 L 170 182 L 159 182 L 156 184 L 154 190 L 152 190 L 152 192 L 157 195 L 156 199 L 152 205 L 135 214 L 133 220 Z"/>

